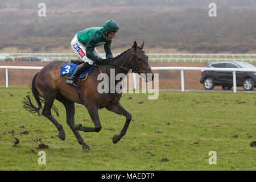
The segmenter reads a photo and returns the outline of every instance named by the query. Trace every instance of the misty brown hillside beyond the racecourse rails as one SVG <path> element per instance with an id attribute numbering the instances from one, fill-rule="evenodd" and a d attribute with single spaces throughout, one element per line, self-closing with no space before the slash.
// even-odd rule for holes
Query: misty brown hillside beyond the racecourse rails
<path id="1" fill-rule="evenodd" d="M 217 17 L 209 17 L 209 3 Z M 39 3 L 46 17 L 39 17 Z M 121 30 L 113 52 L 145 40 L 147 52 L 256 52 L 255 0 L 1 0 L 0 52 L 72 52 L 77 31 L 108 19 Z"/>

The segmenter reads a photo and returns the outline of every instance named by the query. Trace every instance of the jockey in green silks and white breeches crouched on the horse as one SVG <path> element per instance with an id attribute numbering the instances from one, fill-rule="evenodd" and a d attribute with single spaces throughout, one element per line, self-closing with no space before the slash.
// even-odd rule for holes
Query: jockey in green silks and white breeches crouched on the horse
<path id="1" fill-rule="evenodd" d="M 94 63 L 109 63 L 109 59 L 113 58 L 110 45 L 118 30 L 118 24 L 115 23 L 114 20 L 108 20 L 104 23 L 103 27 L 86 28 L 76 33 L 71 41 L 71 47 L 77 56 L 79 56 L 79 59 L 84 61 L 84 63 L 76 68 L 73 75 L 66 81 L 66 84 L 78 88 L 74 82 L 81 73 L 86 71 L 86 69 L 89 69 Z M 106 59 L 102 59 L 100 53 L 98 53 L 95 48 L 103 44 L 106 52 Z"/>

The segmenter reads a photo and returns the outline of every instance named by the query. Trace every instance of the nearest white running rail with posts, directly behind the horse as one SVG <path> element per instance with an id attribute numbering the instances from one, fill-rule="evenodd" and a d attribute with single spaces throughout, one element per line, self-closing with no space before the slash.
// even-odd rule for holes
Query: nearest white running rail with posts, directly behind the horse
<path id="1" fill-rule="evenodd" d="M 22 66 L 0 66 L 0 69 L 5 69 L 6 73 L 6 88 L 8 88 L 8 69 L 42 69 L 43 67 L 22 67 Z M 208 70 L 208 71 L 232 71 L 233 72 L 233 90 L 237 92 L 236 72 L 256 72 L 256 68 L 208 68 L 208 67 L 151 67 L 152 70 L 180 70 L 181 91 L 185 91 L 184 85 L 184 70 Z M 133 73 L 135 74 L 135 73 Z M 135 76 L 133 76 L 135 82 Z M 134 85 L 134 89 L 135 85 Z"/>

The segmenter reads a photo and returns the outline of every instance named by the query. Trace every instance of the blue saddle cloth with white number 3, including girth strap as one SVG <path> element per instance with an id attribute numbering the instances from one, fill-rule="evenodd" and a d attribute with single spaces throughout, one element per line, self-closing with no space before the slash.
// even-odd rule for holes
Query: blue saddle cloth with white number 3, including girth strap
<path id="1" fill-rule="evenodd" d="M 78 65 L 74 64 L 72 62 L 64 64 L 63 67 L 61 67 L 60 77 L 70 77 L 73 74 L 73 72 L 75 72 L 77 67 L 78 67 Z M 92 67 L 90 67 L 84 73 L 82 73 L 80 75 L 80 77 L 77 79 L 77 86 L 79 87 L 79 88 L 77 88 L 77 93 L 79 94 L 82 104 L 85 104 L 85 102 L 84 102 L 84 98 L 82 97 L 82 92 L 81 92 L 81 81 L 86 80 L 86 78 L 88 77 L 90 72 L 92 72 L 93 68 L 94 68 L 94 65 L 92 65 Z"/>

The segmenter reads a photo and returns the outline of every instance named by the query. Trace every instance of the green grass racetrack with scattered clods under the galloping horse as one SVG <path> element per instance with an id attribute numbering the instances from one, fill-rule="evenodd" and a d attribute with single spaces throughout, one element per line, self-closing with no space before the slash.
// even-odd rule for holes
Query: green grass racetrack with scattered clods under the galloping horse
<path id="1" fill-rule="evenodd" d="M 256 169 L 256 147 L 250 146 L 256 140 L 255 94 L 159 92 L 158 100 L 123 94 L 121 104 L 133 115 L 125 137 L 112 143 L 125 117 L 101 109 L 102 130 L 80 132 L 91 151 L 82 151 L 60 102 L 55 102 L 60 117 L 54 116 L 65 141 L 47 118 L 22 108 L 27 94 L 28 88 L 0 88 L 0 170 Z M 76 105 L 75 119 L 93 127 L 82 105 Z M 28 134 L 20 134 L 24 131 Z M 13 147 L 15 138 L 19 144 Z M 41 143 L 49 148 L 39 149 Z M 38 164 L 39 151 L 46 152 L 46 165 Z M 209 151 L 216 151 L 216 165 L 208 163 Z"/>

